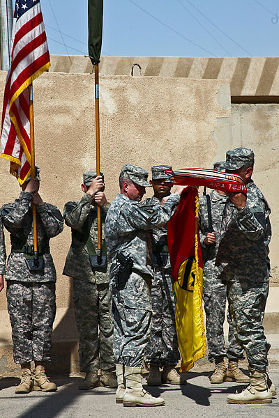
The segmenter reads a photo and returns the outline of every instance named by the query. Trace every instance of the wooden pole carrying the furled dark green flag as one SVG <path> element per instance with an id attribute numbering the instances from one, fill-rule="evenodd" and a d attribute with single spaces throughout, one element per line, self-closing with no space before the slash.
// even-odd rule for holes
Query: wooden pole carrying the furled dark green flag
<path id="1" fill-rule="evenodd" d="M 95 130 L 96 130 L 96 174 L 100 176 L 100 111 L 99 111 L 99 64 L 94 64 L 95 72 Z M 97 262 L 102 263 L 102 227 L 100 222 L 100 206 L 97 206 L 98 247 Z"/>

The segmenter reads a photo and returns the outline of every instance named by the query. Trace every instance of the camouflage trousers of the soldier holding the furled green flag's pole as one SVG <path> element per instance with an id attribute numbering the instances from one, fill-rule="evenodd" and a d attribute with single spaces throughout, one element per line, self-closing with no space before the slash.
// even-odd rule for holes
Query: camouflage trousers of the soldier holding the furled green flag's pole
<path id="1" fill-rule="evenodd" d="M 114 369 L 112 293 L 108 284 L 73 279 L 75 320 L 80 334 L 80 369 Z"/>

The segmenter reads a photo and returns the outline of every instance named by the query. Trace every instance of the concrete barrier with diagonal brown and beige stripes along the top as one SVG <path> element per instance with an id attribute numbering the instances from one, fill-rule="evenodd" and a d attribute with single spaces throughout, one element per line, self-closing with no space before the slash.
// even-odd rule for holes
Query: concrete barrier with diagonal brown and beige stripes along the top
<path id="1" fill-rule="evenodd" d="M 92 70 L 84 56 L 51 56 L 51 71 L 84 72 Z M 144 76 L 186 77 L 190 79 L 229 79 L 232 96 L 279 95 L 279 57 L 206 56 L 101 56 L 101 75 L 130 75 L 137 63 Z M 135 75 L 139 71 L 135 68 Z"/>

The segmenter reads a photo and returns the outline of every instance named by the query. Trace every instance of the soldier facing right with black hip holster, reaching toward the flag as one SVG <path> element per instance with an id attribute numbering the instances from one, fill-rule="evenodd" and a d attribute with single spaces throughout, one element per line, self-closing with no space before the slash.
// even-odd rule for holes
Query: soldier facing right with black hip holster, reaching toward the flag
<path id="1" fill-rule="evenodd" d="M 149 230 L 165 225 L 172 217 L 183 187 L 178 187 L 163 206 L 151 208 L 140 203 L 145 187 L 149 186 L 147 177 L 146 170 L 123 165 L 119 176 L 121 193 L 112 202 L 105 221 L 108 256 L 112 261 L 116 403 L 124 406 L 165 404 L 163 398 L 153 398 L 142 389 L 142 362 L 152 315 Z"/>

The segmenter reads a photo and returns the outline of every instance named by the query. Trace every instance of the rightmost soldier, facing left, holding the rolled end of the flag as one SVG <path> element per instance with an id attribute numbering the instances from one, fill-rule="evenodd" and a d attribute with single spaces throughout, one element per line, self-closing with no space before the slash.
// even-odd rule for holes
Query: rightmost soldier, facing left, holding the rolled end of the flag
<path id="1" fill-rule="evenodd" d="M 269 290 L 269 204 L 252 181 L 254 153 L 248 148 L 227 151 L 226 171 L 241 176 L 247 195 L 227 193 L 216 263 L 227 283 L 229 314 L 236 340 L 246 351 L 250 385 L 231 394 L 229 403 L 270 403 L 276 389 L 266 373 L 270 344 L 262 320 Z"/>

